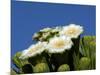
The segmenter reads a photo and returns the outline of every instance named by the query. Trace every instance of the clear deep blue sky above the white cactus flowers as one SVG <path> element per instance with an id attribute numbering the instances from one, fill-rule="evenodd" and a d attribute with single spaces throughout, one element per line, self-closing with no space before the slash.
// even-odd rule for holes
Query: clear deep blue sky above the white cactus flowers
<path id="1" fill-rule="evenodd" d="M 95 6 L 12 1 L 11 54 L 28 48 L 32 35 L 45 27 L 75 23 L 84 35 L 95 35 Z"/>

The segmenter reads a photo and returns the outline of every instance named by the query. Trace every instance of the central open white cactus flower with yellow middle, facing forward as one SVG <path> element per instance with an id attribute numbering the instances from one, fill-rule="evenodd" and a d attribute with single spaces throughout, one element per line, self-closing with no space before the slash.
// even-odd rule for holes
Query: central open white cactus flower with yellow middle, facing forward
<path id="1" fill-rule="evenodd" d="M 65 50 L 69 50 L 73 43 L 70 38 L 65 36 L 54 37 L 50 39 L 47 50 L 49 53 L 61 53 Z"/>

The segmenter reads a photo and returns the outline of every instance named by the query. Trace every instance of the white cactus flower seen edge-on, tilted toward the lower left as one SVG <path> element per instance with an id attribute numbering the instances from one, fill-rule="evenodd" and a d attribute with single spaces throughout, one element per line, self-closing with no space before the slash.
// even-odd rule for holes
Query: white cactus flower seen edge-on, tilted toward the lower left
<path id="1" fill-rule="evenodd" d="M 46 47 L 46 42 L 38 42 L 37 44 L 31 45 L 27 50 L 22 51 L 21 59 L 26 59 L 28 57 L 36 56 L 37 54 L 41 54 Z"/>

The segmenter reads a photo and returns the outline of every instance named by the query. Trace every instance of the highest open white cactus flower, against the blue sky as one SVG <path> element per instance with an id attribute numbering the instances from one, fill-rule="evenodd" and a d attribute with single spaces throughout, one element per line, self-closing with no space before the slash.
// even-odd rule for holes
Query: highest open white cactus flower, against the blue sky
<path id="1" fill-rule="evenodd" d="M 65 35 L 70 38 L 78 38 L 78 36 L 83 32 L 83 27 L 80 25 L 70 24 L 69 26 L 64 26 L 60 35 Z"/>

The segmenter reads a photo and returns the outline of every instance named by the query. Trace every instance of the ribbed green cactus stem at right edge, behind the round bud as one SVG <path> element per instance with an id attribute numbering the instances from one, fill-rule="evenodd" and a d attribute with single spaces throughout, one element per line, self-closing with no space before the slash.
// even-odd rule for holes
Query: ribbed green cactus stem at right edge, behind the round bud
<path id="1" fill-rule="evenodd" d="M 96 37 L 84 36 L 80 41 L 80 52 L 91 60 L 90 69 L 96 68 Z"/>

